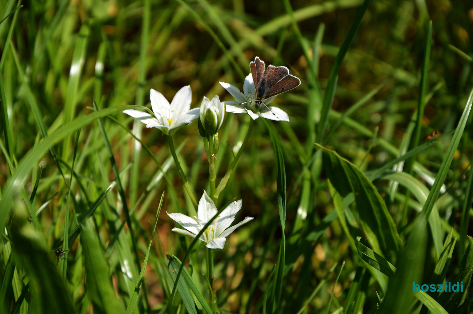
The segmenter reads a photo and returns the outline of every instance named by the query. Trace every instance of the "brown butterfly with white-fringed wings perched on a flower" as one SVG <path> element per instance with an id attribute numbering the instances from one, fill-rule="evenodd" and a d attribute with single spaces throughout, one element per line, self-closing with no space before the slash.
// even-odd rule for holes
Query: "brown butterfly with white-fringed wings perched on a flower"
<path id="1" fill-rule="evenodd" d="M 251 76 L 253 76 L 257 105 L 264 103 L 265 99 L 287 92 L 300 85 L 300 80 L 289 74 L 286 67 L 270 65 L 265 69 L 264 62 L 259 57 L 250 62 Z"/>

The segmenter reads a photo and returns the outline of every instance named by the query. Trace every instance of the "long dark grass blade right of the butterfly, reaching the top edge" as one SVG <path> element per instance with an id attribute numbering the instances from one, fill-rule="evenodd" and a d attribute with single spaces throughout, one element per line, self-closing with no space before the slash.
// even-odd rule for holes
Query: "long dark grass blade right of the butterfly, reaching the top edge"
<path id="1" fill-rule="evenodd" d="M 368 9 L 370 2 L 371 0 L 363 1 L 361 8 L 359 8 L 357 12 L 355 20 L 350 26 L 348 34 L 343 40 L 342 46 L 340 47 L 337 57 L 335 58 L 335 62 L 333 63 L 332 70 L 328 79 L 327 88 L 325 89 L 324 104 L 322 106 L 320 121 L 317 126 L 317 137 L 315 140 L 317 143 L 322 143 L 322 139 L 324 138 L 325 127 L 327 127 L 330 109 L 332 109 L 332 102 L 333 98 L 335 97 L 335 90 L 337 87 L 338 72 L 340 70 L 340 66 L 342 65 L 342 61 L 345 58 L 348 49 L 350 48 L 351 42 L 353 41 L 358 27 L 361 24 L 361 20 L 365 16 L 365 12 Z"/>

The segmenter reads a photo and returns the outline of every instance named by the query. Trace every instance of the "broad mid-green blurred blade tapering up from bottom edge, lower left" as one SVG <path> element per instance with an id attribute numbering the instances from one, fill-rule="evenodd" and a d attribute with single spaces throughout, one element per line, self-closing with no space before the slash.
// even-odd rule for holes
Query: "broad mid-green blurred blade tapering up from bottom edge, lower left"
<path id="1" fill-rule="evenodd" d="M 123 304 L 115 296 L 102 246 L 89 220 L 82 225 L 80 241 L 84 254 L 87 293 L 94 307 L 106 314 L 124 314 Z"/>

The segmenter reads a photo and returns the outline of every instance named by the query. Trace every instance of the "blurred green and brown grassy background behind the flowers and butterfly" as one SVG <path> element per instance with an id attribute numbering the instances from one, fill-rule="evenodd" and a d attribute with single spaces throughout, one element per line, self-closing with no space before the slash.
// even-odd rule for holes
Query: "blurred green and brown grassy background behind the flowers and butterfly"
<path id="1" fill-rule="evenodd" d="M 280 135 L 288 189 L 287 275 L 283 301 L 277 311 L 297 313 L 334 263 L 339 263 L 336 272 L 329 275 L 323 288 L 309 300 L 304 310 L 304 313 L 333 313 L 346 302 L 360 259 L 338 220 L 322 229 L 322 236 L 306 251 L 297 251 L 302 235 L 318 230 L 315 228 L 333 210 L 324 167 L 315 164 L 306 171 L 304 165 L 313 154 L 315 127 L 320 119 L 323 95 L 335 56 L 362 2 L 290 1 L 300 30 L 298 34 L 284 1 L 276 0 L 0 0 L 0 12 L 5 12 L 3 17 L 7 17 L 0 24 L 0 69 L 4 85 L 2 104 L 8 112 L 9 125 L 6 126 L 2 120 L 2 129 L 8 128 L 11 136 L 9 153 L 5 153 L 7 139 L 4 133 L 0 137 L 3 147 L 0 187 L 3 189 L 11 176 L 9 161 L 13 168 L 17 167 L 17 161 L 21 161 L 45 137 L 44 131 L 51 134 L 62 124 L 91 114 L 94 111 L 93 100 L 99 109 L 134 104 L 149 107 L 150 88 L 163 93 L 170 101 L 177 90 L 190 85 L 193 92 L 191 107 L 197 107 L 203 96 L 211 98 L 217 94 L 221 100 L 233 100 L 219 81 L 243 90 L 249 62 L 255 56 L 267 65 L 286 66 L 291 74 L 301 79 L 302 84 L 272 102 L 272 105 L 288 112 L 290 119 L 289 123 L 273 123 Z M 19 5 L 23 7 L 8 16 Z M 473 83 L 473 1 L 372 0 L 343 60 L 327 127 L 329 136 L 324 141 L 325 146 L 361 170 L 380 168 L 396 157 L 393 147 L 401 145 L 418 105 L 429 20 L 433 23 L 432 47 L 427 76 L 428 102 L 421 136 L 433 130 L 447 133 L 455 129 L 460 119 Z M 364 99 L 368 93 L 371 94 Z M 350 112 L 349 118 L 334 127 L 333 122 L 342 113 L 363 99 L 360 106 Z M 170 196 L 169 184 L 159 175 L 149 154 L 116 120 L 105 117 L 105 130 L 118 170 L 122 172 L 128 208 L 133 210 L 132 225 L 140 259 L 146 254 L 159 196 L 163 190 L 166 191 L 144 277 L 147 296 L 140 297 L 135 310 L 135 313 L 158 313 L 164 308 L 169 293 L 166 280 L 170 278 L 164 253 L 182 258 L 190 243 L 189 239 L 171 233 L 174 222 L 168 219 L 166 211 L 189 214 L 192 213 L 192 204 L 170 159 L 166 136 L 155 128 L 140 127 L 125 114 L 112 116 L 138 134 L 158 162 L 169 167 L 167 175 L 177 195 L 176 202 Z M 232 198 L 243 199 L 238 217 L 255 217 L 227 239 L 224 250 L 216 252 L 217 299 L 219 308 L 228 313 L 261 313 L 261 298 L 272 266 L 277 261 L 281 238 L 273 146 L 266 127 L 259 120 L 256 120 L 245 151 L 220 196 L 221 203 Z M 219 131 L 217 182 L 233 160 L 233 153 L 241 145 L 248 124 L 247 115 L 226 114 Z M 453 226 L 453 234 L 458 240 L 467 171 L 473 154 L 472 126 L 470 119 L 445 182 L 448 193 L 442 194 L 437 203 L 443 233 L 449 232 Z M 435 178 L 450 138 L 444 137 L 417 155 L 422 167 L 416 170 L 415 176 L 426 187 L 431 187 L 433 179 L 429 182 L 429 178 Z M 38 174 L 41 175 L 31 206 L 23 202 L 21 195 L 15 195 L 18 197 L 13 212 L 18 217 L 22 211 L 38 210 L 51 198 L 38 215 L 34 229 L 44 235 L 39 238 L 45 239 L 42 245 L 47 245 L 53 261 L 57 260 L 53 250 L 59 247 L 64 235 L 74 139 L 75 133 L 53 147 L 64 178 L 51 153 L 45 154 L 41 157 L 42 172 L 40 166 L 35 165 L 26 182 L 25 191 L 29 196 L 33 193 Z M 195 195 L 200 198 L 202 190 L 208 188 L 208 162 L 197 122 L 180 129 L 174 141 L 179 147 L 178 156 L 184 172 Z M 74 166 L 76 176 L 71 186 L 75 201 L 69 205 L 74 209 L 68 218 L 70 230 L 114 178 L 107 147 L 96 121 L 82 128 L 78 145 Z M 387 195 L 386 181 L 378 182 L 376 186 L 383 197 Z M 403 217 L 406 193 L 400 187 L 400 196 L 387 201 L 403 240 L 417 214 L 413 210 L 416 203 L 413 199 L 414 205 Z M 126 308 L 136 281 L 127 279 L 124 274 L 131 272 L 136 277 L 139 273 L 127 225 L 123 227 L 125 232 L 118 233 L 117 247 L 107 248 L 110 241 L 115 240 L 116 229 L 125 221 L 120 199 L 116 188 L 112 189 L 92 217 L 100 240 L 94 245 L 96 250 L 105 252 L 101 255 L 106 257 L 102 266 L 109 269 L 110 276 L 105 276 L 105 281 L 113 283 L 111 285 L 121 303 L 118 306 Z M 9 228 L 15 229 L 13 216 L 10 215 Z M 355 223 L 359 219 L 356 213 L 353 219 Z M 472 234 L 471 226 L 470 223 L 467 234 Z M 8 232 L 3 235 L 0 269 L 7 274 L 11 239 Z M 93 313 L 110 313 L 106 310 L 105 299 L 100 301 L 85 293 L 88 290 L 86 259 L 91 255 L 83 252 L 82 246 L 87 242 L 82 243 L 83 239 L 79 241 L 79 238 L 69 243 L 71 251 L 65 273 L 65 287 L 71 302 L 77 313 L 92 313 L 91 303 Z M 23 238 L 18 239 L 17 245 L 21 245 Z M 430 254 L 433 250 L 431 239 L 429 241 L 425 282 L 436 265 L 435 254 Z M 200 276 L 201 270 L 205 270 L 202 247 L 199 243 L 194 249 L 191 255 L 193 267 L 190 269 L 204 291 L 205 282 Z M 457 251 L 455 248 L 447 272 L 447 278 L 452 280 L 459 272 L 462 256 Z M 12 284 L 5 284 L 8 310 L 14 311 L 21 292 L 27 291 L 24 289 L 30 280 L 27 274 L 35 273 L 28 268 L 27 262 L 21 262 L 26 255 L 35 260 L 33 252 L 18 253 L 20 258 L 12 275 L 13 281 L 10 280 Z M 45 255 L 43 258 L 45 265 L 49 265 L 48 257 Z M 343 261 L 345 266 L 335 285 Z M 130 269 L 127 269 L 129 264 Z M 53 270 L 50 275 L 54 275 Z M 385 294 L 375 280 L 368 283 L 362 290 L 363 295 L 357 295 L 362 313 L 376 306 L 379 302 L 377 293 L 381 297 Z M 93 291 L 90 289 L 88 291 Z M 331 301 L 332 293 L 334 298 Z M 53 294 L 43 297 L 43 302 L 54 302 L 51 296 Z M 31 302 L 32 299 L 26 297 L 25 302 L 20 302 L 21 307 L 18 305 L 19 312 L 16 313 L 30 313 L 28 308 L 34 304 Z M 181 308 L 184 311 L 184 306 Z"/>

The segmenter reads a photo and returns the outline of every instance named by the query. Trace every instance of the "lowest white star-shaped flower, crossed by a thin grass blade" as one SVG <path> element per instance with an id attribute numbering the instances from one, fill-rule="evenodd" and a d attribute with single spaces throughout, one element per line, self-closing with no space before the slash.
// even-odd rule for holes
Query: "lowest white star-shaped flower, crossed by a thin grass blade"
<path id="1" fill-rule="evenodd" d="M 236 213 L 241 209 L 242 200 L 232 202 L 228 204 L 227 208 L 220 213 L 219 216 L 210 224 L 199 240 L 207 243 L 208 248 L 223 248 L 225 245 L 226 237 L 230 235 L 236 228 L 252 220 L 253 217 L 246 217 L 243 221 L 240 221 L 235 226 L 230 227 L 232 222 L 235 220 Z M 199 207 L 197 209 L 197 217 L 194 216 L 195 220 L 189 216 L 180 213 L 167 213 L 172 220 L 177 221 L 184 229 L 174 228 L 172 231 L 180 233 L 184 236 L 195 238 L 201 229 L 207 222 L 217 213 L 217 207 L 213 203 L 212 199 L 204 191 L 204 194 L 199 201 Z M 230 227 L 230 228 L 228 228 Z"/>

